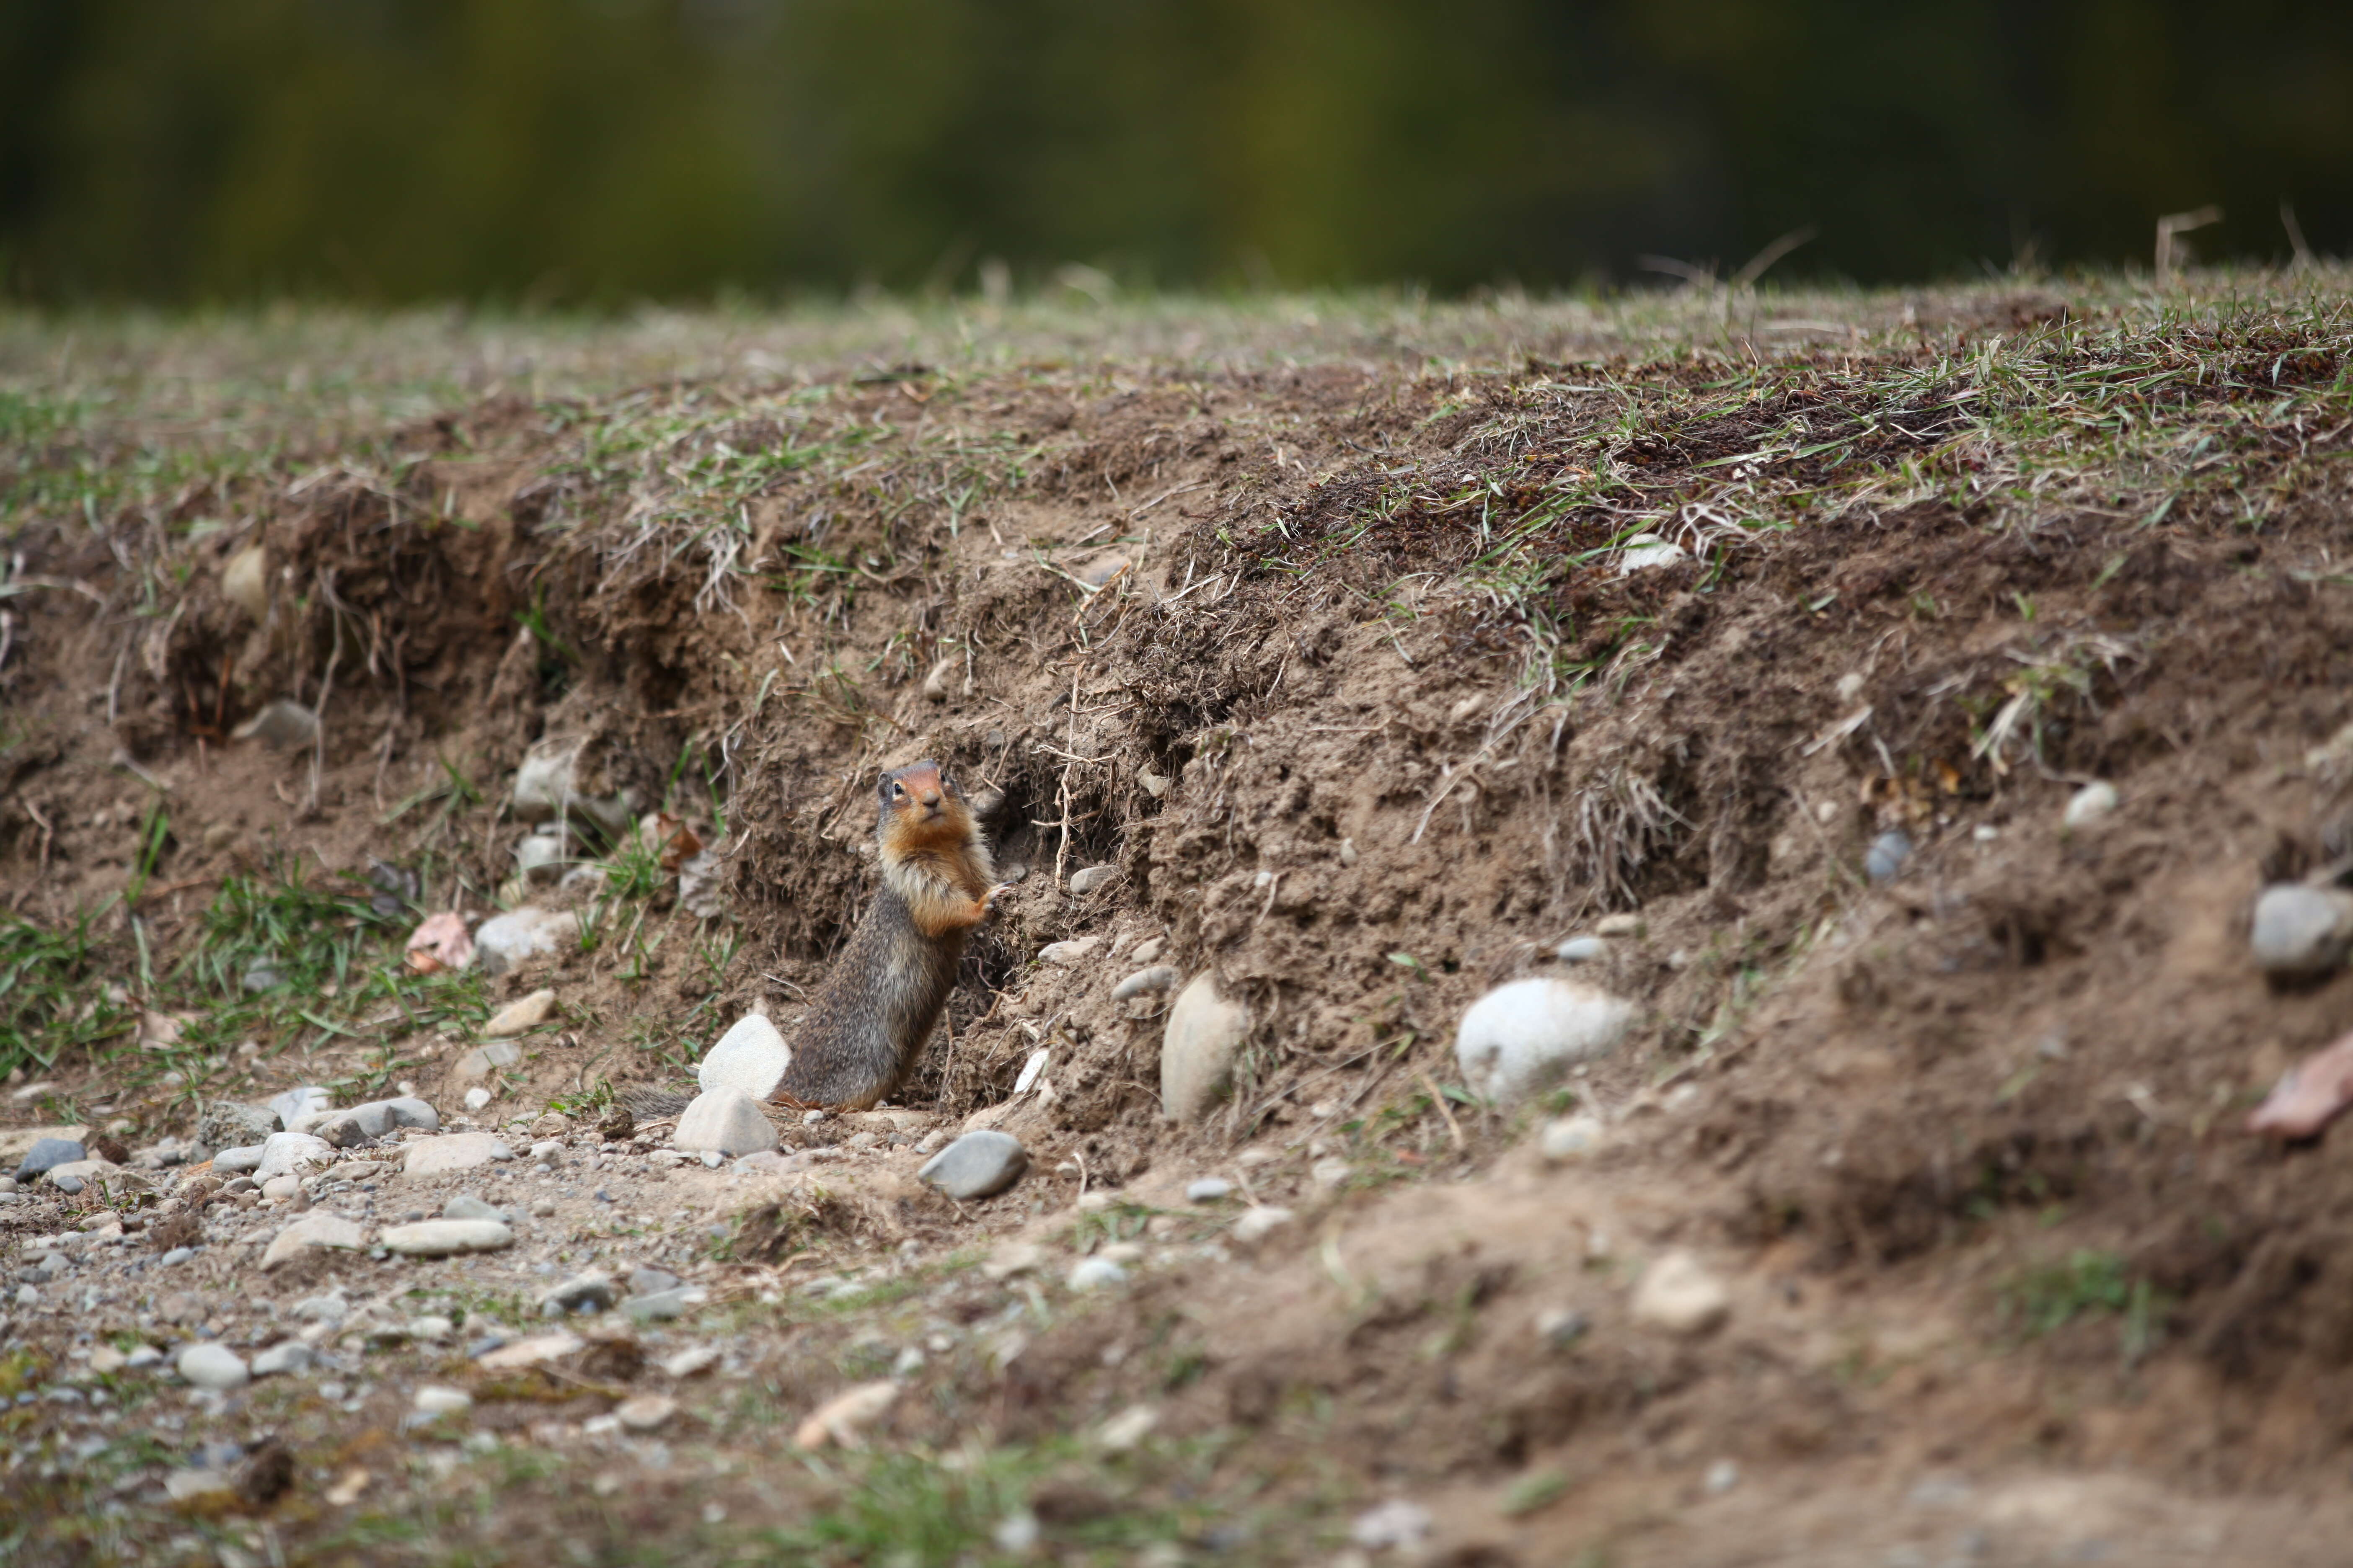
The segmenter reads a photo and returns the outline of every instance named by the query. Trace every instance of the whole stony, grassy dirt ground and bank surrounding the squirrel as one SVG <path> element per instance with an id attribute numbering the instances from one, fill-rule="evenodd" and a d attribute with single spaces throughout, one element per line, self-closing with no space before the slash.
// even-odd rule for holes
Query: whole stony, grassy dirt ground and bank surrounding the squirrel
<path id="1" fill-rule="evenodd" d="M 0 317 L 0 1542 L 2339 1561 L 2341 301 Z"/>

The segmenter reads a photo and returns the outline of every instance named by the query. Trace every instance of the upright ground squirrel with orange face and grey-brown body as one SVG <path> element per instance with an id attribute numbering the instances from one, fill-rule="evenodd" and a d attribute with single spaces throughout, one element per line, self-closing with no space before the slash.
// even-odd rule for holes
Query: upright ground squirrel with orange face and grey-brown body
<path id="1" fill-rule="evenodd" d="M 988 917 L 988 839 L 936 762 L 882 776 L 882 886 L 793 1037 L 776 1100 L 866 1110 L 915 1067 Z"/>

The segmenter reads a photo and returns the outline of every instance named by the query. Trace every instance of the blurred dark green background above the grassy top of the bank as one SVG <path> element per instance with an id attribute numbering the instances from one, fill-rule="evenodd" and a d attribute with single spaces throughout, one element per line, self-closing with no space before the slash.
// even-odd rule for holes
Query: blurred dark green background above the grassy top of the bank
<path id="1" fill-rule="evenodd" d="M 2353 230 L 2353 5 L 0 0 L 0 292 L 1859 282 Z M 988 268 L 991 273 L 995 268 Z M 1078 275 L 1089 287 L 1104 284 Z"/>

